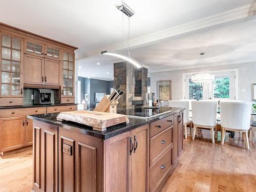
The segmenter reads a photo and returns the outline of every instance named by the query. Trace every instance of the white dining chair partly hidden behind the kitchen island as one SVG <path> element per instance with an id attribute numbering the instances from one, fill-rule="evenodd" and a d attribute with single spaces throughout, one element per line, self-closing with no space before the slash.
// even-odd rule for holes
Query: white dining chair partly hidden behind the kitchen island
<path id="1" fill-rule="evenodd" d="M 191 127 L 191 122 L 192 119 L 189 118 L 189 102 L 188 101 L 178 101 L 178 100 L 169 100 L 168 101 L 168 106 L 171 107 L 177 107 L 177 108 L 185 108 L 184 113 L 183 113 L 183 124 L 184 124 L 184 135 L 185 139 L 187 139 L 187 125 L 190 125 Z"/>

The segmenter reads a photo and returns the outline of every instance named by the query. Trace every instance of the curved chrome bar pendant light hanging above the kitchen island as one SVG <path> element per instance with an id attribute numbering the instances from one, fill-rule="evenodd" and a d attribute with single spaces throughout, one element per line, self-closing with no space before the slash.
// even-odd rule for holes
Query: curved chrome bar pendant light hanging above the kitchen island
<path id="1" fill-rule="evenodd" d="M 128 16 L 129 31 L 128 31 L 128 36 L 127 36 L 127 50 L 128 50 L 129 56 L 126 56 L 122 53 L 118 53 L 118 52 L 114 52 L 114 51 L 102 51 L 101 54 L 102 55 L 111 55 L 111 56 L 114 56 L 114 57 L 121 58 L 123 60 L 126 60 L 126 61 L 132 63 L 137 68 L 142 68 L 143 66 L 141 65 L 141 63 L 139 63 L 137 60 L 132 58 L 131 55 L 130 55 L 130 17 L 133 16 L 135 12 L 123 2 L 120 6 L 116 5 L 116 7 L 117 7 L 118 10 L 122 11 L 123 14 Z M 123 32 L 122 32 L 122 35 L 123 35 Z M 123 41 L 123 39 L 122 39 L 122 41 Z"/>

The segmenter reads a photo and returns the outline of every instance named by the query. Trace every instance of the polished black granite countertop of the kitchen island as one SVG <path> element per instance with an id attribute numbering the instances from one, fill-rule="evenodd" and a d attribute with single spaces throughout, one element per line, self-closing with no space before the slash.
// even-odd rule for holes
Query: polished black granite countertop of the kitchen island
<path id="1" fill-rule="evenodd" d="M 75 123 L 75 122 L 71 122 L 71 121 L 57 121 L 57 115 L 59 113 L 49 113 L 49 114 L 41 114 L 41 115 L 29 115 L 28 117 L 33 119 L 33 120 L 37 120 L 37 121 L 41 121 L 41 122 L 45 122 L 45 123 L 49 123 L 52 125 L 56 125 L 59 127 L 63 127 L 65 129 L 69 129 L 72 131 L 76 131 L 82 134 L 87 134 L 87 135 L 91 135 L 94 137 L 98 137 L 101 139 L 109 139 L 111 137 L 114 137 L 116 135 L 122 134 L 124 132 L 133 130 L 139 126 L 154 122 L 156 120 L 162 119 L 164 117 L 167 117 L 169 115 L 173 115 L 175 113 L 179 113 L 181 111 L 183 111 L 184 109 L 182 108 L 166 108 L 166 110 L 169 111 L 169 113 L 163 113 L 162 115 L 159 114 L 157 117 L 151 118 L 150 120 L 148 119 L 141 119 L 141 118 L 133 118 L 133 117 L 129 117 L 129 123 L 121 123 L 118 125 L 114 125 L 111 127 L 108 127 L 106 129 L 106 131 L 95 131 L 92 129 L 91 126 L 87 126 L 87 125 L 83 125 L 83 124 L 79 124 L 79 123 Z"/>

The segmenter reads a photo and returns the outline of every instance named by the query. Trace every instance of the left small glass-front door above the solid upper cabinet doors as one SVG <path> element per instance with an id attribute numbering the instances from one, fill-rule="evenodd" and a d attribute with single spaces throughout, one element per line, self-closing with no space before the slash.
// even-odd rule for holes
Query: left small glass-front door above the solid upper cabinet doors
<path id="1" fill-rule="evenodd" d="M 43 44 L 39 44 L 38 42 L 34 42 L 31 40 L 25 40 L 25 53 L 30 54 L 30 55 L 35 55 L 39 57 L 44 57 L 45 56 L 45 48 Z"/>

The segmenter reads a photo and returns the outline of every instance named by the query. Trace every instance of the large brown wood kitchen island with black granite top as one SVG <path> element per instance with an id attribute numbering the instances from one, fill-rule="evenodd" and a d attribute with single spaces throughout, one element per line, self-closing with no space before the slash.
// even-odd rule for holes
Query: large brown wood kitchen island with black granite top
<path id="1" fill-rule="evenodd" d="M 122 110 L 130 122 L 103 132 L 58 113 L 29 116 L 32 191 L 157 191 L 183 150 L 183 110 Z"/>

